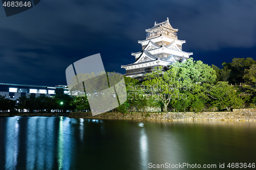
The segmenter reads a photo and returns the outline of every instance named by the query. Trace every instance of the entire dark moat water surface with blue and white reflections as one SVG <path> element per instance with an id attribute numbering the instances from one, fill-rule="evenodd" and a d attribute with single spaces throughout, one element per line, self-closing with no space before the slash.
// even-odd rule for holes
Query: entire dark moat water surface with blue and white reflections
<path id="1" fill-rule="evenodd" d="M 0 117 L 0 169 L 8 170 L 229 169 L 256 163 L 255 143 L 256 122 Z"/>

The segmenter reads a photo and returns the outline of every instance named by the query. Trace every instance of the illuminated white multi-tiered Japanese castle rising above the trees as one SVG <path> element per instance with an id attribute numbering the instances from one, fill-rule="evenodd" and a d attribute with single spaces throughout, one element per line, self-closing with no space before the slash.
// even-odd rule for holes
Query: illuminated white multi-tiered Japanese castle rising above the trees
<path id="1" fill-rule="evenodd" d="M 138 41 L 142 45 L 142 51 L 132 53 L 135 62 L 129 65 L 122 65 L 126 69 L 127 77 L 141 77 L 151 72 L 156 66 L 163 68 L 174 62 L 184 62 L 193 53 L 182 51 L 182 44 L 185 40 L 178 40 L 177 31 L 170 23 L 169 18 L 164 22 L 156 23 L 151 29 L 147 29 L 146 39 Z"/>

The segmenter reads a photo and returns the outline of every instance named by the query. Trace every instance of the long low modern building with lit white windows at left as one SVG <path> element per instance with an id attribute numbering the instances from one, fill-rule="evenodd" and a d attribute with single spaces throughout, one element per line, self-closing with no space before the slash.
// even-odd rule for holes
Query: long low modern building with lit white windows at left
<path id="1" fill-rule="evenodd" d="M 16 100 L 20 96 L 53 96 L 56 90 L 62 90 L 63 93 L 68 94 L 69 89 L 65 85 L 53 86 L 36 86 L 36 85 L 22 85 L 22 84 L 9 84 L 0 83 L 0 95 L 6 96 L 11 100 Z"/>

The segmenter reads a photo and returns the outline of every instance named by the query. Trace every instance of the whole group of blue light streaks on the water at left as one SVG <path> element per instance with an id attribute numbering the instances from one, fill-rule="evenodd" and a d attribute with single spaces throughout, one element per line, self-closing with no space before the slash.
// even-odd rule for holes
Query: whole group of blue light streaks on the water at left
<path id="1" fill-rule="evenodd" d="M 71 169 L 75 144 L 69 118 L 8 117 L 5 120 L 5 127 L 1 128 L 4 134 L 0 134 L 5 136 L 4 144 L 0 145 L 0 151 L 5 151 L 5 162 L 0 160 L 0 165 L 5 163 L 5 169 Z M 26 129 L 21 131 L 19 121 L 23 121 Z M 20 141 L 25 144 L 22 148 Z"/>

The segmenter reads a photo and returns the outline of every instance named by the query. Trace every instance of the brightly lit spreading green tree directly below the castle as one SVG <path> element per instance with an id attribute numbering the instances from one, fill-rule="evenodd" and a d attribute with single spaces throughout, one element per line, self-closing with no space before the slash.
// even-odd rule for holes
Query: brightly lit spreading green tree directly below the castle
<path id="1" fill-rule="evenodd" d="M 167 111 L 167 106 L 172 101 L 177 107 L 179 103 L 183 108 L 189 102 L 179 101 L 181 96 L 186 96 L 186 92 L 194 88 L 196 84 L 213 83 L 216 81 L 216 71 L 203 64 L 202 61 L 194 61 L 189 58 L 184 63 L 176 62 L 169 66 L 165 72 L 162 67 L 156 68 L 154 72 L 147 74 L 144 84 L 147 88 L 151 88 L 152 93 L 164 105 L 164 111 Z"/>

